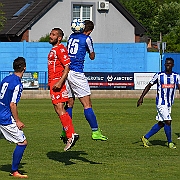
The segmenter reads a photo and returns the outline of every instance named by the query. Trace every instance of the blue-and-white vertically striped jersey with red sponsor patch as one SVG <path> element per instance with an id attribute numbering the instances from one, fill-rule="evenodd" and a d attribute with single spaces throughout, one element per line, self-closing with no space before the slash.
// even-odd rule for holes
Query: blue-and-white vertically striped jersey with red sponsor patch
<path id="1" fill-rule="evenodd" d="M 171 107 L 174 103 L 176 86 L 180 84 L 180 75 L 175 72 L 171 74 L 159 72 L 154 75 L 150 83 L 157 84 L 156 105 Z"/>

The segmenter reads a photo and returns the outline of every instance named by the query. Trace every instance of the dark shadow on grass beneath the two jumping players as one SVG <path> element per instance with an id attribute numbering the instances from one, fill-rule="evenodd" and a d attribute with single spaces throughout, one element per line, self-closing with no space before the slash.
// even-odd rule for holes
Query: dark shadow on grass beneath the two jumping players
<path id="1" fill-rule="evenodd" d="M 72 162 L 71 159 L 87 162 L 90 164 L 102 164 L 102 163 L 90 161 L 87 158 L 82 157 L 81 155 L 88 155 L 88 154 L 84 151 L 67 151 L 67 152 L 50 151 L 47 153 L 47 157 L 49 159 L 62 162 L 65 165 L 76 164 Z"/>

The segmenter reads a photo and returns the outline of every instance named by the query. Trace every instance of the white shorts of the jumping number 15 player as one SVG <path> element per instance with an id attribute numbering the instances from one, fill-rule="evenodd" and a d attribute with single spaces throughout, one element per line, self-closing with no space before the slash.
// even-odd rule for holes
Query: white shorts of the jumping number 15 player
<path id="1" fill-rule="evenodd" d="M 91 94 L 88 80 L 84 73 L 70 70 L 67 79 L 69 83 L 69 87 L 67 85 L 69 97 L 75 96 L 81 98 L 84 96 L 89 96 Z"/>

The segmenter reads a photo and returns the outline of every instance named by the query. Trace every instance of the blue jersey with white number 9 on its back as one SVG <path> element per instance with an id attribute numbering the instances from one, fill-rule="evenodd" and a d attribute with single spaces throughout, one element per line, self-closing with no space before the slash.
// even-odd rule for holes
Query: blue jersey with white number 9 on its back
<path id="1" fill-rule="evenodd" d="M 23 91 L 19 76 L 11 74 L 5 77 L 0 84 L 0 124 L 12 124 L 10 103 L 18 103 Z"/>

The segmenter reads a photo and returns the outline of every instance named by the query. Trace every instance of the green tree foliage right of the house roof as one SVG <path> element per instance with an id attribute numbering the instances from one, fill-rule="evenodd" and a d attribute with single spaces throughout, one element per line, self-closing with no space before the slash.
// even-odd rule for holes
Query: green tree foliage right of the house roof
<path id="1" fill-rule="evenodd" d="M 148 30 L 152 41 L 166 42 L 168 52 L 180 52 L 180 0 L 119 0 Z"/>

